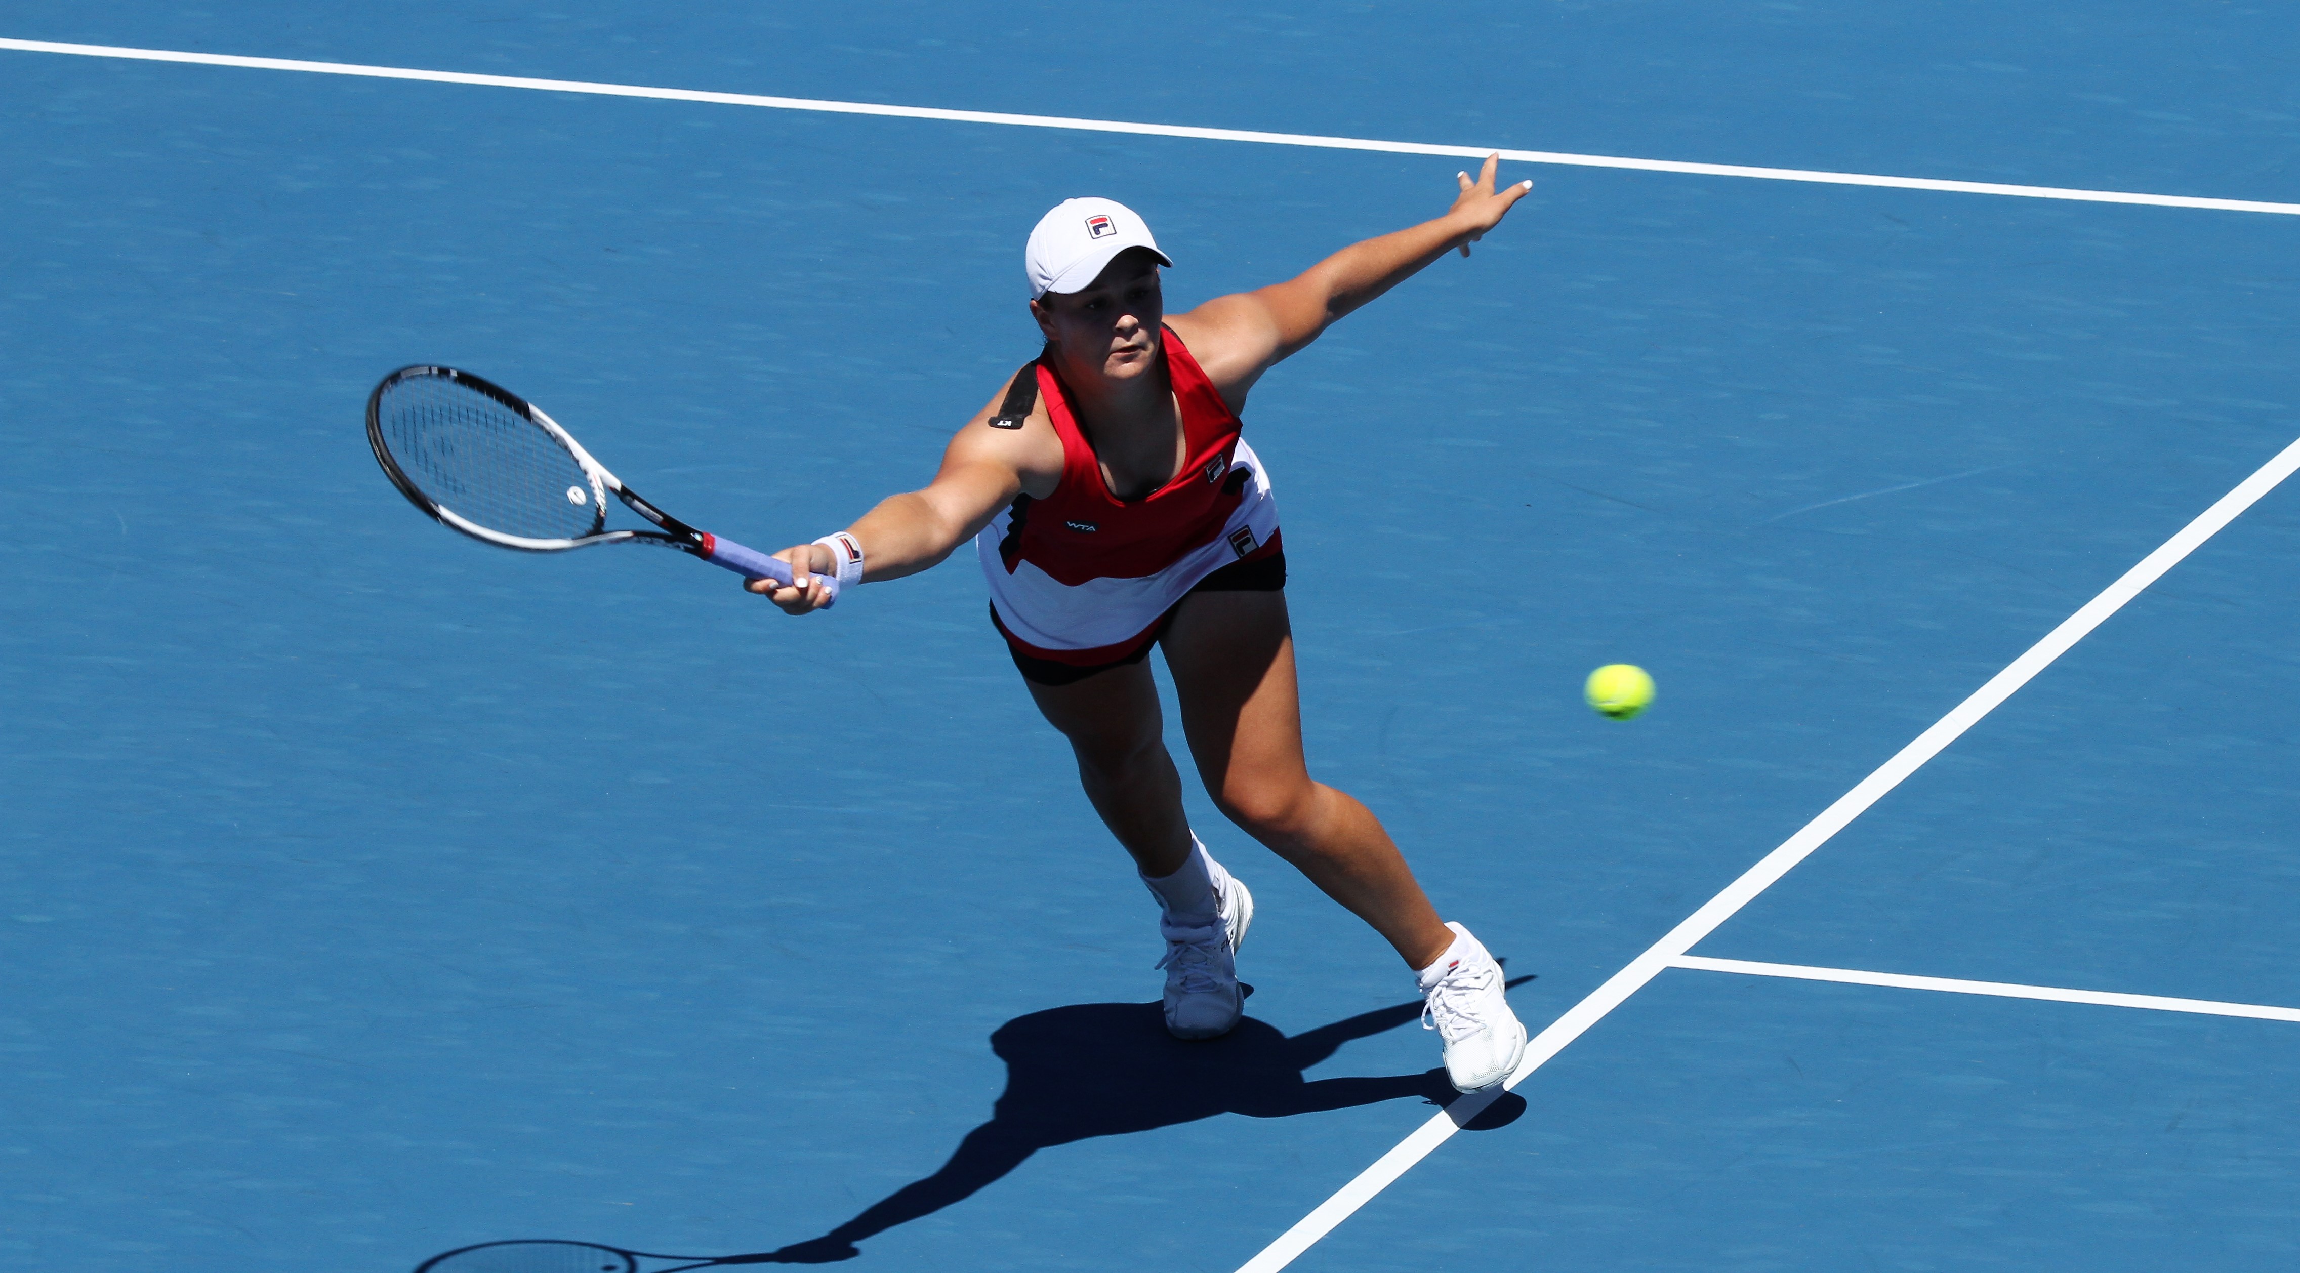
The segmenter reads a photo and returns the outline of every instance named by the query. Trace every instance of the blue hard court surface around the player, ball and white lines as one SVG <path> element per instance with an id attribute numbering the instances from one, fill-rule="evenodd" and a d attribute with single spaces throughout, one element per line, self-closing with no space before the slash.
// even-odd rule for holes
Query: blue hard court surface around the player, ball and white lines
<path id="1" fill-rule="evenodd" d="M 0 2 L 0 35 L 2300 198 L 2275 7 Z M 1150 902 L 971 562 L 787 622 L 662 555 L 490 552 L 384 486 L 359 407 L 471 366 L 773 546 L 925 481 L 1028 355 L 1049 203 L 1141 207 L 1191 304 L 1451 175 L 0 53 L 0 1268 L 770 1252 L 1000 1091 L 977 1192 L 856 1268 L 1260 1250 L 1428 1116 L 1371 932 L 1201 801 L 1258 994 L 1178 1052 Z M 1472 260 L 1249 428 L 1311 762 L 1539 1027 L 2300 435 L 2300 226 L 1513 175 Z M 1700 953 L 2300 1004 L 2295 500 Z M 1661 679 L 1635 725 L 1578 702 L 1608 661 Z M 1670 971 L 1297 1268 L 2288 1268 L 2293 1029 Z"/>

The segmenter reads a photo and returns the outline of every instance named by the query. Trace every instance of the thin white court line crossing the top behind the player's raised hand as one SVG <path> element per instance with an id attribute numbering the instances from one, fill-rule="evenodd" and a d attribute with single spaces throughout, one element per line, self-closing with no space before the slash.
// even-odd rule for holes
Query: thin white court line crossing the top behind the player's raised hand
<path id="1" fill-rule="evenodd" d="M 481 87 L 529 87 L 586 92 L 596 97 L 653 97 L 662 101 L 708 101 L 718 106 L 766 106 L 770 110 L 821 110 L 830 115 L 885 115 L 897 120 L 945 120 L 957 124 L 1012 124 L 1021 129 L 1074 129 L 1088 134 L 1136 134 L 1152 138 L 1249 140 L 1260 145 L 1309 145 L 1320 150 L 1378 150 L 1385 154 L 1447 154 L 1483 159 L 1500 152 L 1520 163 L 1573 168 L 1631 168 L 1638 173 L 1686 173 L 1695 177 L 1753 177 L 1759 182 L 1817 182 L 1826 186 L 1891 186 L 1902 191 L 1994 193 L 2012 198 L 2061 198 L 2077 203 L 2137 203 L 2148 207 L 2203 207 L 2213 212 L 2275 212 L 2300 216 L 2300 203 L 2254 198 L 2199 198 L 2176 193 L 2077 191 L 2061 186 L 2015 186 L 2003 182 L 1941 182 L 1932 177 L 1879 177 L 1872 173 L 1815 173 L 1805 168 L 1750 168 L 1743 163 L 1686 163 L 1677 159 L 1624 159 L 1619 154 L 1566 154 L 1555 150 L 1497 150 L 1490 145 L 1426 145 L 1412 140 L 1329 138 L 1316 134 L 1263 134 L 1251 129 L 1196 129 L 1187 124 L 1136 124 L 1127 120 L 1072 120 L 1065 115 L 1010 115 L 1000 110 L 943 110 L 936 106 L 881 106 L 874 101 L 823 101 L 814 97 L 761 97 L 752 92 L 704 92 L 692 87 L 644 87 L 628 83 L 543 81 L 531 76 L 478 76 L 412 67 L 361 67 L 354 62 L 299 62 L 290 58 L 237 58 L 230 53 L 184 53 L 175 48 L 120 48 L 110 44 L 55 44 L 46 39 L 0 39 L 18 53 L 71 53 L 78 58 L 126 58 L 133 62 L 189 62 L 198 67 L 244 67 L 255 71 L 310 71 L 320 76 L 366 76 L 379 81 L 462 83 Z"/>

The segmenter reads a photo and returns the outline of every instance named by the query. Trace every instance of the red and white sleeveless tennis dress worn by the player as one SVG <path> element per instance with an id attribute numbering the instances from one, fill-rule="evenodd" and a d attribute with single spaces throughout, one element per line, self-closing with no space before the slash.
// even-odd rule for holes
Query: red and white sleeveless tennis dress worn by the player
<path id="1" fill-rule="evenodd" d="M 1189 458 L 1141 500 L 1111 495 L 1063 380 L 1035 368 L 1063 481 L 1044 500 L 1019 495 L 975 536 L 991 619 L 1017 654 L 1074 668 L 1134 658 L 1205 575 L 1281 550 L 1270 474 L 1237 414 L 1171 327 L 1164 345 Z"/>

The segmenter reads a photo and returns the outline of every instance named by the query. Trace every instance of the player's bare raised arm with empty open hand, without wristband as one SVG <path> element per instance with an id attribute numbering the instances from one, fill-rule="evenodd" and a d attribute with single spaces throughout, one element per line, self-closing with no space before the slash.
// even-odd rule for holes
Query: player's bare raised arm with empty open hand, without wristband
<path id="1" fill-rule="evenodd" d="M 1532 182 L 1516 182 L 1495 191 L 1493 170 L 1500 161 L 1500 154 L 1488 154 L 1474 182 L 1460 173 L 1460 193 L 1444 216 L 1350 244 L 1300 279 L 1214 297 L 1175 315 L 1175 329 L 1189 341 L 1208 378 L 1237 407 L 1260 373 L 1316 341 L 1341 315 L 1412 279 L 1454 249 L 1470 256 L 1470 244 L 1500 226 L 1509 207 L 1534 189 Z"/>

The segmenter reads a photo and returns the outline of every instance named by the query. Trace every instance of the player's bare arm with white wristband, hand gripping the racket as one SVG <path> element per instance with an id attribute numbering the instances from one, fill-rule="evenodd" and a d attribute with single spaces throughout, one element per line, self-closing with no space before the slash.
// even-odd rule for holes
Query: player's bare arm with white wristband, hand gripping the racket
<path id="1" fill-rule="evenodd" d="M 1021 428 L 991 428 L 1005 389 L 989 401 L 943 449 L 943 467 L 922 490 L 890 495 L 862 520 L 846 527 L 862 546 L 862 580 L 879 582 L 941 564 L 973 539 L 998 509 L 1021 490 L 1044 495 L 1063 474 L 1063 442 L 1046 421 L 1044 405 Z M 757 592 L 791 615 L 819 610 L 826 601 L 816 575 L 835 575 L 837 559 L 821 543 L 798 543 L 775 552 L 791 564 L 791 582 L 750 580 Z"/>

